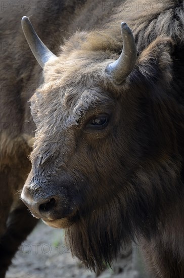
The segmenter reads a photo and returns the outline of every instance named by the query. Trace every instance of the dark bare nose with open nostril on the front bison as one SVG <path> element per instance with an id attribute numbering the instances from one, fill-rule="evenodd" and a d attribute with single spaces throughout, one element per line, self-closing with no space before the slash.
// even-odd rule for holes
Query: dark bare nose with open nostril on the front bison
<path id="1" fill-rule="evenodd" d="M 32 197 L 30 188 L 24 188 L 22 201 L 36 218 L 55 220 L 64 218 L 73 212 L 70 200 L 65 195 L 49 195 L 45 198 Z"/>

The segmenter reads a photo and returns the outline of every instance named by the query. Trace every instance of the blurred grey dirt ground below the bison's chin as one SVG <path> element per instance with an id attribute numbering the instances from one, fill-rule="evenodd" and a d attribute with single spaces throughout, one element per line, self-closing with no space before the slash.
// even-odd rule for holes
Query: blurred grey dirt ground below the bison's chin
<path id="1" fill-rule="evenodd" d="M 64 230 L 54 229 L 42 222 L 21 245 L 6 278 L 42 277 L 96 277 L 87 271 L 80 261 L 73 259 L 68 246 L 64 243 Z M 145 275 L 140 258 L 134 255 L 122 256 L 112 269 L 103 271 L 100 278 L 149 278 Z"/>

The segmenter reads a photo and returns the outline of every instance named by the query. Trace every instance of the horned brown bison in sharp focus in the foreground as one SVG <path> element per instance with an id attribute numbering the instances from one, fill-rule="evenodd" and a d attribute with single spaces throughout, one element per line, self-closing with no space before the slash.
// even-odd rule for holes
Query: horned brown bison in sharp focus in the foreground
<path id="1" fill-rule="evenodd" d="M 90 269 L 138 238 L 156 277 L 183 277 L 183 3 L 104 3 L 112 17 L 57 56 L 23 18 L 43 83 L 22 200 Z"/>

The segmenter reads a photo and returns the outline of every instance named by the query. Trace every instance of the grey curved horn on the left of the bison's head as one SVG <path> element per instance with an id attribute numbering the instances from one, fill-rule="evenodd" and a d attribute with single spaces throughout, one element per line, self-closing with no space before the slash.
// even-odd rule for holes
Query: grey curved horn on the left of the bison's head
<path id="1" fill-rule="evenodd" d="M 22 29 L 34 57 L 43 69 L 44 64 L 56 56 L 40 40 L 26 16 L 22 18 Z"/>

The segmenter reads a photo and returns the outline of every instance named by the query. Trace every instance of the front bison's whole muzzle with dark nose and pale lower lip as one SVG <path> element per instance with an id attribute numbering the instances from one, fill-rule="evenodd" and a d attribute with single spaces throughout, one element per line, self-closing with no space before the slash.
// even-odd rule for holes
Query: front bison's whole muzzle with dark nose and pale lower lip
<path id="1" fill-rule="evenodd" d="M 36 180 L 34 183 L 27 180 L 26 184 L 21 196 L 34 217 L 42 218 L 50 226 L 62 228 L 69 227 L 75 221 L 77 191 L 73 192 L 75 187 L 73 183 L 70 184 L 68 177 L 40 186 Z"/>

